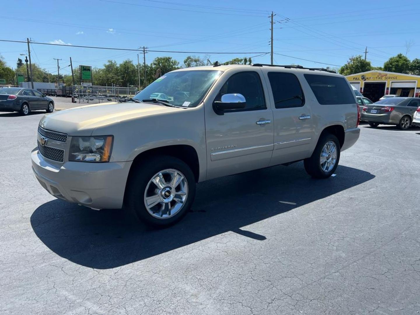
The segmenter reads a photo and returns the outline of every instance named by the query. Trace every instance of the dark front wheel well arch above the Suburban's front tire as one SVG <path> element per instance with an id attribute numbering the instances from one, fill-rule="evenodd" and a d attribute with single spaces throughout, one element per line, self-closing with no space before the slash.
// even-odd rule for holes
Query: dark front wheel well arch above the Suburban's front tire
<path id="1" fill-rule="evenodd" d="M 137 165 L 140 165 L 142 161 L 146 159 L 152 159 L 155 156 L 158 155 L 169 155 L 173 157 L 177 157 L 178 159 L 184 161 L 190 168 L 192 173 L 194 174 L 195 181 L 198 182 L 199 178 L 199 161 L 198 161 L 198 155 L 196 150 L 186 144 L 176 144 L 176 145 L 168 145 L 165 147 L 158 147 L 155 149 L 150 149 L 147 151 L 144 151 L 137 155 L 134 160 L 133 164 L 131 165 L 129 176 L 131 174 L 131 171 L 137 167 Z"/>

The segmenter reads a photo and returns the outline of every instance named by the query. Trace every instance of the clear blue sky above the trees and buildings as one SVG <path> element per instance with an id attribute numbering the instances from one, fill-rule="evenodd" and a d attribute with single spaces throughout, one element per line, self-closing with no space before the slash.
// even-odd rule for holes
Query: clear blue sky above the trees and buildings
<path id="1" fill-rule="evenodd" d="M 178 2 L 179 1 L 179 2 Z M 58 42 L 69 45 L 120 47 L 194 52 L 238 52 L 210 55 L 220 62 L 234 57 L 252 57 L 270 52 L 270 20 L 274 11 L 274 55 L 277 64 L 341 66 L 368 47 L 368 60 L 382 66 L 392 55 L 419 57 L 420 8 L 415 1 L 250 1 L 250 0 L 72 0 L 3 1 L 0 39 Z M 218 9 L 215 9 L 218 8 Z M 7 14 L 6 14 L 7 13 Z M 108 59 L 137 62 L 136 52 L 97 50 L 31 44 L 32 62 L 53 73 L 73 59 L 79 64 L 102 66 Z M 26 44 L 0 42 L 0 54 L 16 67 Z M 147 63 L 158 56 L 171 56 L 180 64 L 190 53 L 146 55 Z M 290 56 L 290 57 L 286 57 Z M 142 55 L 140 56 L 142 58 Z M 291 58 L 294 57 L 294 58 Z M 24 58 L 24 57 L 23 57 Z M 297 58 L 314 60 L 299 60 Z M 269 63 L 270 55 L 252 58 Z M 142 59 L 140 59 L 142 62 Z M 70 74 L 70 68 L 60 73 Z"/>

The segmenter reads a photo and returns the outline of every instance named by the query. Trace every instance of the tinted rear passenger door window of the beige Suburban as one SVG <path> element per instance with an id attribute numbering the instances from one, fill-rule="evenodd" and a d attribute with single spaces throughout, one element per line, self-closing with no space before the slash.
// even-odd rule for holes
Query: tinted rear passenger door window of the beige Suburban
<path id="1" fill-rule="evenodd" d="M 294 74 L 286 72 L 269 72 L 271 90 L 276 108 L 301 107 L 304 96 L 299 80 Z"/>

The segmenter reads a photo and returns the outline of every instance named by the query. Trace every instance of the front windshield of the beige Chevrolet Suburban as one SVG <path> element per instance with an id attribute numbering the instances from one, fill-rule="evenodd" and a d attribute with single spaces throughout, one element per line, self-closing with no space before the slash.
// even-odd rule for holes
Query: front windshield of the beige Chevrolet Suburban
<path id="1" fill-rule="evenodd" d="M 195 107 L 221 73 L 217 70 L 169 72 L 133 98 L 139 101 L 157 99 L 176 106 Z"/>

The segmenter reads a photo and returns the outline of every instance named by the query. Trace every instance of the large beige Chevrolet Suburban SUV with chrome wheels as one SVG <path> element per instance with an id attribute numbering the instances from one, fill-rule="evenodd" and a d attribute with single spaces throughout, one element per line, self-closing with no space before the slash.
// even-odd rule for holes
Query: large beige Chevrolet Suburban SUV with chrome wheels
<path id="1" fill-rule="evenodd" d="M 189 97 L 177 102 L 181 88 Z M 174 100 L 152 99 L 163 92 Z M 358 107 L 349 82 L 328 70 L 181 68 L 129 102 L 45 115 L 32 166 L 57 198 L 124 205 L 169 226 L 189 211 L 198 182 L 302 160 L 310 176 L 328 178 L 359 138 Z"/>

